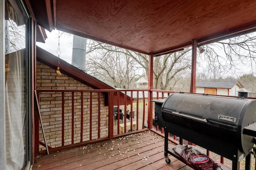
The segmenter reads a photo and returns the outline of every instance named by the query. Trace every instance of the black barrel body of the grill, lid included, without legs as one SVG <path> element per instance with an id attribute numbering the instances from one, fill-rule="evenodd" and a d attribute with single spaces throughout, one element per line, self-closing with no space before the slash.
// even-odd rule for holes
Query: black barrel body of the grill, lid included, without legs
<path id="1" fill-rule="evenodd" d="M 256 100 L 174 93 L 162 104 L 158 118 L 166 132 L 220 154 L 233 164 L 247 156 L 254 145 L 254 137 L 245 135 L 244 128 L 255 125 Z"/>

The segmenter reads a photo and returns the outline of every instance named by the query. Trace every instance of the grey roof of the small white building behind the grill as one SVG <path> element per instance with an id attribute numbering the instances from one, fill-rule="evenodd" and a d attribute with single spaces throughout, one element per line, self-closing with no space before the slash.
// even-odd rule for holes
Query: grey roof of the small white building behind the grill
<path id="1" fill-rule="evenodd" d="M 244 86 L 239 81 L 212 81 L 212 82 L 198 82 L 196 83 L 196 87 L 203 88 L 228 88 L 231 89 L 235 85 L 238 85 L 240 88 Z"/>

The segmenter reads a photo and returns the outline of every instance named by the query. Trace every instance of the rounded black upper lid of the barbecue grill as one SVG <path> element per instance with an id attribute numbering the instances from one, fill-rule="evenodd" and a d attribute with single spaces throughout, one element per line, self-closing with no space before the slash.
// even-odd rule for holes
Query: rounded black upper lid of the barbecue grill
<path id="1" fill-rule="evenodd" d="M 255 108 L 256 102 L 251 99 L 174 93 L 164 101 L 162 113 L 240 131 L 256 121 Z"/>

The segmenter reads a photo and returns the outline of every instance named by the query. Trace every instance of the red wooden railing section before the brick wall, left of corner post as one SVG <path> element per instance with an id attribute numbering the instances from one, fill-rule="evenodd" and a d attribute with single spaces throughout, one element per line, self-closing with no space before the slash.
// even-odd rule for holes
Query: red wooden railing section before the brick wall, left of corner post
<path id="1" fill-rule="evenodd" d="M 145 131 L 148 128 L 145 127 L 145 117 L 146 117 L 146 109 L 145 109 L 145 94 L 144 93 L 148 93 L 148 90 L 36 90 L 37 91 L 37 96 L 39 99 L 39 105 L 41 107 L 41 109 L 47 109 L 47 106 L 49 106 L 48 110 L 49 112 L 52 112 L 51 110 L 57 110 L 54 113 L 51 113 L 50 117 L 56 117 L 58 115 L 58 111 L 60 111 L 61 113 L 61 123 L 58 124 L 58 128 L 61 127 L 61 144 L 60 146 L 56 145 L 56 146 L 51 146 L 50 142 L 47 142 L 49 145 L 49 152 L 56 152 L 59 150 L 63 150 L 63 149 L 67 149 L 67 148 L 71 148 L 71 147 L 78 147 L 78 146 L 82 146 L 82 145 L 86 145 L 89 143 L 96 143 L 99 141 L 104 141 L 104 140 L 109 140 L 109 139 L 113 139 L 116 137 L 120 137 L 120 136 L 125 136 L 127 135 L 127 133 L 138 133 L 138 131 Z M 133 93 L 136 93 L 135 96 L 133 96 Z M 142 94 L 142 98 L 139 97 L 139 92 Z M 129 95 L 127 95 L 128 93 L 130 93 Z M 88 94 L 88 95 L 85 95 Z M 107 99 L 105 99 L 104 97 L 101 97 L 101 95 L 103 96 L 105 94 L 105 96 L 108 96 Z M 122 96 L 120 95 L 122 94 Z M 98 97 L 95 97 L 97 96 Z M 117 121 L 116 124 L 114 125 L 114 117 L 113 117 L 113 107 L 114 107 L 114 102 L 113 99 L 114 96 L 117 97 L 117 105 L 118 105 L 118 111 L 119 108 L 122 110 L 124 110 L 124 119 L 123 122 L 124 125 L 126 125 L 128 123 L 128 121 L 126 120 L 126 110 L 129 107 L 130 108 L 130 112 L 132 113 L 132 111 L 136 110 L 136 119 L 133 120 L 133 117 L 131 116 L 130 118 L 130 122 L 132 121 L 136 121 L 136 131 L 134 131 L 132 123 L 130 123 L 130 132 L 127 131 L 127 127 L 124 126 L 124 133 L 120 132 L 120 121 Z M 123 102 L 124 104 L 121 105 L 121 98 L 123 97 Z M 86 98 L 86 102 L 84 101 L 84 99 Z M 105 102 L 102 103 L 102 100 L 105 99 Z M 55 103 L 57 103 L 55 106 L 53 106 L 52 104 L 50 104 L 52 102 L 52 100 L 55 101 Z M 77 102 L 79 100 L 79 102 Z M 58 101 L 58 102 L 56 102 Z M 106 102 L 109 101 L 109 102 Z M 45 104 L 47 102 L 47 104 Z M 133 103 L 134 102 L 134 103 Z M 142 111 L 139 111 L 139 103 L 142 102 L 143 103 L 143 108 Z M 42 104 L 41 104 L 42 103 Z M 87 106 L 87 117 L 86 120 L 84 119 L 84 104 L 86 103 Z M 127 104 L 129 104 L 127 106 Z M 108 105 L 108 106 L 105 106 Z M 80 107 L 80 111 L 76 111 L 76 107 Z M 55 108 L 52 108 L 55 107 Z M 58 109 L 60 108 L 60 109 Z M 105 111 L 102 111 L 105 110 Z M 102 128 L 104 127 L 104 125 L 102 124 L 102 114 L 103 112 L 108 111 L 108 121 L 105 120 L 104 124 L 105 124 L 105 128 L 108 128 L 108 134 L 107 135 L 102 135 Z M 41 111 L 41 113 L 44 113 L 45 111 Z M 78 113 L 79 112 L 79 113 Z M 36 112 L 37 113 L 37 112 Z M 95 115 L 97 113 L 97 115 Z M 76 115 L 75 115 L 76 114 Z M 46 115 L 49 115 L 48 113 L 46 113 Z M 76 117 L 77 115 L 79 115 L 79 117 Z M 142 115 L 142 120 L 139 121 L 139 116 Z M 118 120 L 119 120 L 119 114 L 117 114 L 118 116 Z M 96 117 L 96 119 L 94 118 Z M 38 119 L 38 115 L 36 115 L 36 119 Z M 65 123 L 66 120 L 71 120 L 70 123 Z M 46 126 L 44 126 L 44 129 L 47 129 L 47 125 L 49 124 L 53 124 L 54 122 L 44 122 L 44 119 L 42 119 L 43 124 L 46 124 Z M 85 122 L 86 121 L 86 122 Z M 95 122 L 97 121 L 97 122 Z M 95 127 L 94 124 L 98 124 L 97 127 Z M 38 140 L 37 142 L 37 154 L 39 153 L 39 144 L 42 144 L 42 142 L 39 140 L 39 123 L 37 123 L 37 131 L 36 131 L 36 138 Z M 67 126 L 70 126 L 70 128 L 66 129 Z M 80 128 L 77 128 L 77 127 Z M 84 126 L 88 126 L 88 129 L 84 129 Z M 51 132 L 55 132 L 54 128 L 57 127 L 52 127 L 50 129 Z M 77 130 L 78 129 L 78 130 Z M 97 134 L 95 133 L 95 129 L 97 131 Z M 78 132 L 79 131 L 79 132 Z M 71 133 L 70 137 L 68 138 L 68 140 L 70 140 L 69 142 L 67 141 L 67 135 L 66 133 Z M 84 133 L 89 133 L 89 137 L 88 139 L 84 139 Z M 79 134 L 79 135 L 78 135 Z M 95 136 L 96 134 L 96 136 Z M 47 135 L 47 133 L 46 133 Z M 103 136 L 103 137 L 102 137 Z M 79 141 L 78 138 L 79 137 Z M 47 137 L 49 140 L 49 138 L 52 139 L 52 137 Z M 53 137 L 54 138 L 54 137 Z M 56 137 L 57 138 L 57 137 Z M 42 139 L 42 137 L 41 137 Z M 41 153 L 44 153 L 45 150 L 43 150 L 43 148 L 41 148 Z"/>

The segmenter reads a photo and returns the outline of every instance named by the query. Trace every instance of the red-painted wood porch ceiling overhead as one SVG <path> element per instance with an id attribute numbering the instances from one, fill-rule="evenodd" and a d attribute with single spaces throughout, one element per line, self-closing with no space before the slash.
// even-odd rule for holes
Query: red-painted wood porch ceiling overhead
<path id="1" fill-rule="evenodd" d="M 256 31 L 255 0 L 26 0 L 38 25 L 161 55 Z"/>

